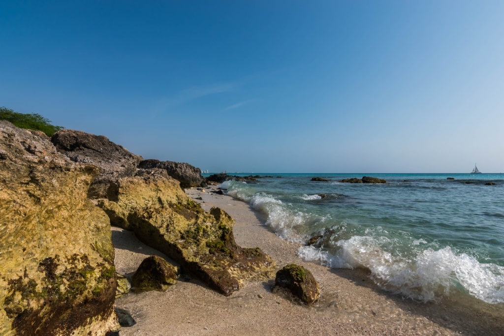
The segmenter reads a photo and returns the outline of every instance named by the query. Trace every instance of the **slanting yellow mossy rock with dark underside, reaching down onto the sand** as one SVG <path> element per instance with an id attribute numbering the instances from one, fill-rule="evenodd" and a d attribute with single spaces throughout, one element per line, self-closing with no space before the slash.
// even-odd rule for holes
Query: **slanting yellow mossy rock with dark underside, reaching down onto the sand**
<path id="1" fill-rule="evenodd" d="M 228 214 L 218 208 L 205 213 L 164 169 L 139 169 L 137 176 L 119 179 L 117 197 L 100 199 L 98 205 L 112 225 L 133 230 L 178 262 L 181 272 L 224 295 L 274 270 L 274 261 L 259 248 L 235 243 Z"/>

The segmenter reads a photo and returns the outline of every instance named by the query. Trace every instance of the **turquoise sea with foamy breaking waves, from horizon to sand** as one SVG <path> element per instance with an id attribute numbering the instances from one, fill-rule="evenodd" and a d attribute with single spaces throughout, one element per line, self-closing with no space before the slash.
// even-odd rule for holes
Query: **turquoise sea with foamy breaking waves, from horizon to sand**
<path id="1" fill-rule="evenodd" d="M 381 288 L 414 300 L 462 294 L 504 303 L 504 174 L 264 175 L 273 177 L 221 188 L 283 239 L 322 235 L 299 257 L 366 268 Z M 362 176 L 387 183 L 338 182 Z"/>

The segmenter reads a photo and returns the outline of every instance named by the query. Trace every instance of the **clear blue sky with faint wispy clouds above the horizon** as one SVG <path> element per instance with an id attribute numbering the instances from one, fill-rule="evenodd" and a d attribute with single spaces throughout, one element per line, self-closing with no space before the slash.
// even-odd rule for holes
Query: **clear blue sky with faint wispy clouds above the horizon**
<path id="1" fill-rule="evenodd" d="M 0 106 L 212 172 L 504 172 L 502 1 L 4 1 Z"/>

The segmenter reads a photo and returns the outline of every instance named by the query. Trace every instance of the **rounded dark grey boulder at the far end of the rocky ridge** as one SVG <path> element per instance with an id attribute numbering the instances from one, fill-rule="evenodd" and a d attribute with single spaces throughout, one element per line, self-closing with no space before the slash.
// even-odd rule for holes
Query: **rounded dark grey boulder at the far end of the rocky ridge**
<path id="1" fill-rule="evenodd" d="M 142 169 L 164 169 L 169 176 L 180 181 L 180 187 L 182 188 L 199 186 L 205 180 L 201 175 L 201 169 L 188 163 L 150 159 L 140 162 L 138 167 Z"/>

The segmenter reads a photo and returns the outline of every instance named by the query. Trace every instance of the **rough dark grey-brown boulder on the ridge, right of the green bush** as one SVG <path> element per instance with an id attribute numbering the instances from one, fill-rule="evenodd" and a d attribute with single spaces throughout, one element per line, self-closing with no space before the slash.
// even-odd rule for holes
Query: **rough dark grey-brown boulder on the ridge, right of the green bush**
<path id="1" fill-rule="evenodd" d="M 115 181 L 125 176 L 134 176 L 142 157 L 130 153 L 104 136 L 95 136 L 79 130 L 62 129 L 51 138 L 56 149 L 70 160 L 101 169 L 93 180 L 88 195 L 102 198 L 116 192 Z"/>

